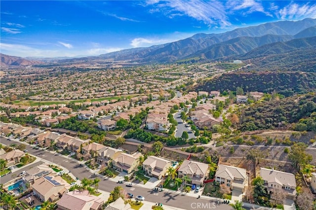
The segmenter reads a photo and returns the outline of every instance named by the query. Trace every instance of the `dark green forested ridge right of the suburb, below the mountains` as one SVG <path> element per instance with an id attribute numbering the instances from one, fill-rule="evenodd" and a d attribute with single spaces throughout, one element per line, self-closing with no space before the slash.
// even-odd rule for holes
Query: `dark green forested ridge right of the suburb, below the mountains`
<path id="1" fill-rule="evenodd" d="M 230 72 L 203 82 L 195 89 L 203 91 L 236 90 L 242 87 L 245 92 L 276 91 L 285 97 L 294 94 L 306 94 L 316 91 L 316 73 L 314 72 Z"/>

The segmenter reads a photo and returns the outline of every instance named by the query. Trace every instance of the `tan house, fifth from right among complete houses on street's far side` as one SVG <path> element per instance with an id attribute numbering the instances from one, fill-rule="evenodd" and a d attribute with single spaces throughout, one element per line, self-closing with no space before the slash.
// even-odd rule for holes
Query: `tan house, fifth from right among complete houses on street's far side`
<path id="1" fill-rule="evenodd" d="M 118 156 L 112 160 L 113 168 L 119 172 L 130 174 L 135 171 L 139 165 L 139 157 L 142 153 L 135 152 L 134 154 L 119 153 Z"/>

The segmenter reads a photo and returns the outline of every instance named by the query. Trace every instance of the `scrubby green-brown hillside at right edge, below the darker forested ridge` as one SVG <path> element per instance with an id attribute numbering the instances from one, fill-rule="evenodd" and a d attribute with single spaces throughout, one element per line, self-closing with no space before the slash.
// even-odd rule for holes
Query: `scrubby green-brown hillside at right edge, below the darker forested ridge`
<path id="1" fill-rule="evenodd" d="M 240 114 L 240 130 L 316 131 L 316 94 L 292 96 L 250 105 Z"/>

